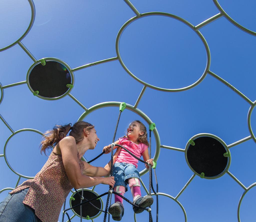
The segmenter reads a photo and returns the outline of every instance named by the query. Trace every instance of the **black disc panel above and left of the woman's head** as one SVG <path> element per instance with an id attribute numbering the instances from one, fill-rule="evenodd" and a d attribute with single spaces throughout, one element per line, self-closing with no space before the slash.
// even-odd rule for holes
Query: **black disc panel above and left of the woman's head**
<path id="1" fill-rule="evenodd" d="M 45 98 L 55 98 L 64 95 L 71 83 L 71 75 L 66 66 L 56 61 L 46 61 L 32 68 L 28 82 L 34 91 L 39 91 L 38 95 Z"/>

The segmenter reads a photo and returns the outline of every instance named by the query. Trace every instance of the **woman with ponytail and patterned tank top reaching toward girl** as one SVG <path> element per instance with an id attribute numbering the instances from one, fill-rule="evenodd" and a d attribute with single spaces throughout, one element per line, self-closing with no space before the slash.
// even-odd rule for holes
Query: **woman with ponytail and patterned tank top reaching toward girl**
<path id="1" fill-rule="evenodd" d="M 57 222 L 73 187 L 88 188 L 100 183 L 114 186 L 114 177 L 103 177 L 110 174 L 110 162 L 102 168 L 81 161 L 84 153 L 93 150 L 100 140 L 93 125 L 79 121 L 72 127 L 55 126 L 45 135 L 41 153 L 54 149 L 35 178 L 23 182 L 0 203 L 1 222 Z"/>

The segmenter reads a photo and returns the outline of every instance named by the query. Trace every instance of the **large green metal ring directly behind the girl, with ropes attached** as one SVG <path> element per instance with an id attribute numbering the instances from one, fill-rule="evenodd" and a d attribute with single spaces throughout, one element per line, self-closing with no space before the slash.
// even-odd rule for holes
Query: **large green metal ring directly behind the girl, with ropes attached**
<path id="1" fill-rule="evenodd" d="M 85 111 L 77 121 L 83 121 L 90 113 L 92 113 L 93 111 L 100 109 L 100 108 L 104 108 L 104 107 L 119 107 L 121 104 L 121 102 L 104 102 L 104 103 L 98 103 L 92 107 L 90 107 L 87 111 Z M 126 109 L 138 114 L 139 116 L 141 116 L 148 124 L 153 123 L 153 121 L 146 115 L 144 114 L 140 109 L 138 108 L 134 108 L 132 105 L 126 103 Z M 155 156 L 153 157 L 154 161 L 157 162 L 159 154 L 160 154 L 160 137 L 158 134 L 157 129 L 155 128 L 153 130 L 154 136 L 155 136 L 155 140 L 156 140 L 156 151 L 155 151 Z M 146 174 L 148 172 L 149 169 L 144 169 L 140 172 L 140 176 L 143 176 L 144 174 Z"/>

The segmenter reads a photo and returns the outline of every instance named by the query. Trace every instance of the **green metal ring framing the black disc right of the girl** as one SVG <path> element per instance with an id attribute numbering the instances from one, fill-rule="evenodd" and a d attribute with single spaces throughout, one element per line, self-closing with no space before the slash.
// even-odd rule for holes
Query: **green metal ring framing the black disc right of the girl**
<path id="1" fill-rule="evenodd" d="M 193 137 L 191 137 L 190 140 L 194 140 L 194 139 L 196 139 L 196 138 L 198 138 L 198 137 L 205 137 L 205 136 L 206 136 L 206 137 L 211 137 L 211 138 L 214 138 L 214 139 L 218 140 L 218 141 L 225 147 L 225 149 L 227 150 L 227 152 L 229 152 L 229 151 L 228 151 L 228 148 L 227 148 L 227 144 L 226 144 L 222 139 L 220 139 L 219 137 L 217 137 L 216 135 L 211 134 L 211 133 L 199 133 L 199 134 L 194 135 Z M 187 159 L 187 151 L 188 151 L 188 146 L 189 146 L 189 145 L 190 145 L 190 143 L 187 142 L 186 148 L 185 148 L 185 158 L 186 158 L 187 165 L 189 166 L 189 168 L 190 168 L 196 175 L 198 175 L 198 176 L 200 177 L 201 174 L 198 174 L 198 173 L 190 166 L 190 164 L 189 164 L 189 162 L 188 162 L 188 159 Z M 229 156 L 229 157 L 227 157 L 227 158 L 228 158 L 228 165 L 227 165 L 226 169 L 225 169 L 220 175 L 218 175 L 218 176 L 216 176 L 216 177 L 205 177 L 205 176 L 204 176 L 204 178 L 206 178 L 206 179 L 216 179 L 216 178 L 219 178 L 219 177 L 223 176 L 223 175 L 228 171 L 228 169 L 229 169 L 229 167 L 230 167 L 230 164 L 231 164 L 231 156 Z"/>

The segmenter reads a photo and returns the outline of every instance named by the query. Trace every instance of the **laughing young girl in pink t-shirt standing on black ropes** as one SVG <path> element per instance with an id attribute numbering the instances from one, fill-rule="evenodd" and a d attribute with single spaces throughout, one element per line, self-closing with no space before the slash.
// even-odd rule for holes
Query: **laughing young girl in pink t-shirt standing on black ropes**
<path id="1" fill-rule="evenodd" d="M 153 159 L 149 159 L 148 155 L 148 141 L 147 141 L 147 130 L 143 123 L 139 120 L 133 121 L 127 129 L 126 136 L 119 138 L 115 144 L 122 145 L 135 156 L 140 158 L 143 156 L 144 161 L 153 166 Z M 133 203 L 140 207 L 148 207 L 153 204 L 153 198 L 149 195 L 141 197 L 140 190 L 140 174 L 137 170 L 138 160 L 135 159 L 131 154 L 122 149 L 119 146 L 114 146 L 116 149 L 113 156 L 113 176 L 115 180 L 114 191 L 124 195 L 127 191 L 127 184 L 131 189 L 133 195 Z M 111 145 L 103 148 L 105 153 L 111 152 Z M 148 169 L 149 166 L 146 165 Z M 133 211 L 138 214 L 143 210 L 134 207 Z M 123 199 L 115 194 L 115 203 L 109 207 L 109 213 L 112 215 L 113 220 L 121 220 L 124 214 Z"/>

